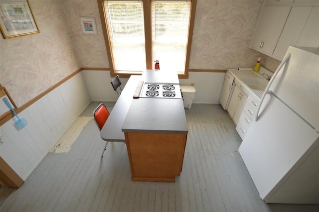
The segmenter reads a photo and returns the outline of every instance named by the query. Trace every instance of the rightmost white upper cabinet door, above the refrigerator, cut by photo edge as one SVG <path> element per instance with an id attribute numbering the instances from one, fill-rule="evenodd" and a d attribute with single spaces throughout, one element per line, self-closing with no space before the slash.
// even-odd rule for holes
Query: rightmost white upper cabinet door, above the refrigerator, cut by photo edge
<path id="1" fill-rule="evenodd" d="M 297 41 L 296 46 L 319 46 L 319 7 L 314 6 L 310 12 L 306 25 Z"/>

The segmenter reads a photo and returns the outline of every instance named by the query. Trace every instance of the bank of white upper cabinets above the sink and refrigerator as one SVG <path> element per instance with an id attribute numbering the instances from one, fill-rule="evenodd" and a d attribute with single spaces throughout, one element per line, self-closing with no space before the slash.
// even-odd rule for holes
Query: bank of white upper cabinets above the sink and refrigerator
<path id="1" fill-rule="evenodd" d="M 277 60 L 289 46 L 318 47 L 317 4 L 319 0 L 266 0 L 250 47 Z"/>

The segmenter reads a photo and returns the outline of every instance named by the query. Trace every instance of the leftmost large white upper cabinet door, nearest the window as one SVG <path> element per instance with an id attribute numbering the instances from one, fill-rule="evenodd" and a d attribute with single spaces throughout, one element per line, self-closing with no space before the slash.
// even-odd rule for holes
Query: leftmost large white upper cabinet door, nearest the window
<path id="1" fill-rule="evenodd" d="M 264 6 L 250 47 L 272 55 L 291 6 Z"/>

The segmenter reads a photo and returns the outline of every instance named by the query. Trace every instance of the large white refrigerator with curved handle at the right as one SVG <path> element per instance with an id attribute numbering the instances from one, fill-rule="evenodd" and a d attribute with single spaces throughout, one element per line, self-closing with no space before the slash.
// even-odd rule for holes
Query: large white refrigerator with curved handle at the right
<path id="1" fill-rule="evenodd" d="M 288 48 L 239 153 L 262 200 L 319 204 L 319 53 Z"/>

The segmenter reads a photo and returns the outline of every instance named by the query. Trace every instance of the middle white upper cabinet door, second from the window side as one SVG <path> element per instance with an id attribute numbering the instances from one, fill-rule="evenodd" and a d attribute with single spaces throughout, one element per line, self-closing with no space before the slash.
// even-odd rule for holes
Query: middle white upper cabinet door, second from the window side
<path id="1" fill-rule="evenodd" d="M 311 9 L 312 6 L 293 6 L 283 32 L 278 40 L 278 44 L 274 51 L 274 58 L 283 60 L 288 47 L 296 45 L 298 38 L 306 24 Z"/>

